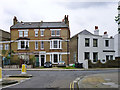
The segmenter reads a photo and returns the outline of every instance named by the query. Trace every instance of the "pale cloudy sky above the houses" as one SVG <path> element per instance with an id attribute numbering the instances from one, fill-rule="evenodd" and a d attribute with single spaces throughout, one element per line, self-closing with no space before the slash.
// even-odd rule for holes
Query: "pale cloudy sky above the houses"
<path id="1" fill-rule="evenodd" d="M 69 15 L 71 37 L 86 29 L 117 34 L 118 0 L 0 0 L 0 29 L 10 32 L 13 17 L 23 22 L 62 21 Z"/>

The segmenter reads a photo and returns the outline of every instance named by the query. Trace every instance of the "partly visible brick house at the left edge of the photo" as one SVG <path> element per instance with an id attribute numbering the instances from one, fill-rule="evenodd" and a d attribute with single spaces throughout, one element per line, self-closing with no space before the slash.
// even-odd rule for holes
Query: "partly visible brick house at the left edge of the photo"
<path id="1" fill-rule="evenodd" d="M 10 50 L 10 33 L 0 29 L 0 59 L 7 57 Z M 4 54 L 2 53 L 4 52 Z M 0 66 L 1 66 L 0 60 Z"/>

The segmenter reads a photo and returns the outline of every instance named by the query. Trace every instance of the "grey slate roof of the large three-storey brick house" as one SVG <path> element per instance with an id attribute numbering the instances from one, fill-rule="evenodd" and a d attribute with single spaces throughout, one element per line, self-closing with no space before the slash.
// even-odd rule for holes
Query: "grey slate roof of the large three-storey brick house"
<path id="1" fill-rule="evenodd" d="M 67 28 L 64 22 L 18 22 L 12 25 L 11 29 L 29 29 L 29 28 Z"/>

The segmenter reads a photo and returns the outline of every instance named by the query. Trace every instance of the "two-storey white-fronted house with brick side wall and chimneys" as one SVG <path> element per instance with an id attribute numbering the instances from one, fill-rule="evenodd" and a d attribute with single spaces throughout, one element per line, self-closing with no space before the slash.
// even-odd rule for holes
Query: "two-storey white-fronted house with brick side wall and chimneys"
<path id="1" fill-rule="evenodd" d="M 98 26 L 95 26 L 94 34 L 83 30 L 73 36 L 70 44 L 71 63 L 84 64 L 85 60 L 91 60 L 93 63 L 98 60 L 101 62 L 115 60 L 114 38 L 108 37 L 107 32 L 104 32 L 104 35 L 99 35 Z"/>

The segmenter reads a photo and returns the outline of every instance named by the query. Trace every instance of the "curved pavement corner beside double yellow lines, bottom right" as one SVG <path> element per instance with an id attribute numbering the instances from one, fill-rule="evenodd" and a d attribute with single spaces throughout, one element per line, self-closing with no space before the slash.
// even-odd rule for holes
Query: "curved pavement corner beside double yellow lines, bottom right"
<path id="1" fill-rule="evenodd" d="M 120 90 L 119 75 L 120 72 L 88 75 L 78 81 L 78 88 L 118 88 Z"/>

